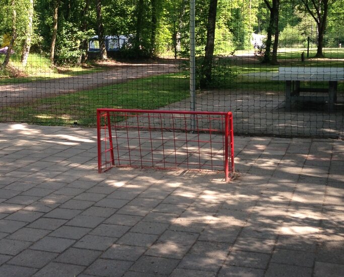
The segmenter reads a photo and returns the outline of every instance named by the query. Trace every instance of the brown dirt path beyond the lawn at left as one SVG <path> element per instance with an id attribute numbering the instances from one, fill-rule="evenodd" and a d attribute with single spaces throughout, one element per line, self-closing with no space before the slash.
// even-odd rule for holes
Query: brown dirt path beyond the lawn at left
<path id="1" fill-rule="evenodd" d="M 178 67 L 171 61 L 156 63 L 111 63 L 107 71 L 59 78 L 49 81 L 0 86 L 0 107 L 16 106 L 37 98 L 53 97 L 82 90 L 126 82 L 153 75 L 174 73 Z"/>

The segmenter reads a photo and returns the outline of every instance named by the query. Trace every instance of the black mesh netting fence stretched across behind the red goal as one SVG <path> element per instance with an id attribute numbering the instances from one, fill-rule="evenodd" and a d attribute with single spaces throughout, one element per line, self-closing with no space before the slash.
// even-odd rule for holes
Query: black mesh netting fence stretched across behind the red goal
<path id="1" fill-rule="evenodd" d="M 97 108 L 231 111 L 235 134 L 344 135 L 343 0 L 3 6 L 0 122 L 95 127 Z"/>

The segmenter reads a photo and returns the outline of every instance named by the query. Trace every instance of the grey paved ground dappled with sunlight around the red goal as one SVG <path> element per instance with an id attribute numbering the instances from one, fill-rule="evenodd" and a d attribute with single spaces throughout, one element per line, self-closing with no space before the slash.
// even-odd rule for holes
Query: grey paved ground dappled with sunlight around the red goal
<path id="1" fill-rule="evenodd" d="M 342 276 L 344 143 L 235 137 L 223 174 L 96 171 L 96 131 L 0 124 L 0 276 Z"/>

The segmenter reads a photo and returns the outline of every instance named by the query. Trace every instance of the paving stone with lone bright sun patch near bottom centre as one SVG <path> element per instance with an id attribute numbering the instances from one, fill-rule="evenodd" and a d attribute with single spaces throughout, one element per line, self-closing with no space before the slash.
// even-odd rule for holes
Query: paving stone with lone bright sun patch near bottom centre
<path id="1" fill-rule="evenodd" d="M 173 243 L 155 243 L 145 254 L 163 258 L 181 259 L 189 249 L 190 246 Z"/>

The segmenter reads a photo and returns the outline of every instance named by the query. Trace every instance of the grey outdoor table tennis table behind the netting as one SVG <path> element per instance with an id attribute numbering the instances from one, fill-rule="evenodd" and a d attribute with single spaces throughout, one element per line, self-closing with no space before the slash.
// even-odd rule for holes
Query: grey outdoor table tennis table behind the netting
<path id="1" fill-rule="evenodd" d="M 337 83 L 344 80 L 344 67 L 280 67 L 272 80 L 286 81 L 286 108 L 293 101 L 328 102 L 333 109 L 337 101 Z M 302 88 L 300 82 L 328 82 L 328 89 Z M 300 95 L 300 92 L 327 95 Z"/>

